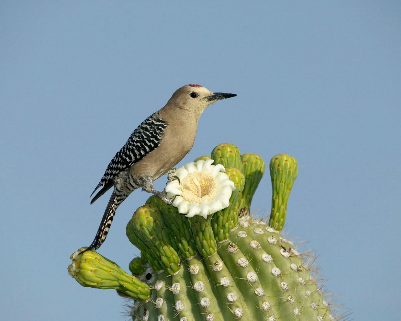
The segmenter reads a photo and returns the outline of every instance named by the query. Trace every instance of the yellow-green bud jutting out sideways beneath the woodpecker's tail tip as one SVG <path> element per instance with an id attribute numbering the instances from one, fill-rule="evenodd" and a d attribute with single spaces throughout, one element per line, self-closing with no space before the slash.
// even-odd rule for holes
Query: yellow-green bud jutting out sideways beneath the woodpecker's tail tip
<path id="1" fill-rule="evenodd" d="M 82 286 L 100 289 L 115 289 L 136 300 L 145 301 L 150 298 L 150 287 L 125 272 L 114 262 L 107 260 L 99 253 L 85 251 L 80 248 L 71 255 L 72 263 L 68 273 Z"/>

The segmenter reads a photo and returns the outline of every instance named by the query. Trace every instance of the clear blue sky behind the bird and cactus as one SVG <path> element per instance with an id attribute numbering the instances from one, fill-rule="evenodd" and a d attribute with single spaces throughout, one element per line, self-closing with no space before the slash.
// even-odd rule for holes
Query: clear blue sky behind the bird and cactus
<path id="1" fill-rule="evenodd" d="M 400 17 L 399 1 L 1 1 L 1 319 L 128 319 L 69 256 L 95 236 L 110 192 L 89 195 L 111 158 L 188 83 L 238 96 L 204 112 L 180 165 L 222 142 L 296 157 L 286 235 L 309 241 L 352 318 L 399 319 Z M 118 208 L 99 250 L 125 270 L 148 196 Z M 253 209 L 270 197 L 266 175 Z"/>

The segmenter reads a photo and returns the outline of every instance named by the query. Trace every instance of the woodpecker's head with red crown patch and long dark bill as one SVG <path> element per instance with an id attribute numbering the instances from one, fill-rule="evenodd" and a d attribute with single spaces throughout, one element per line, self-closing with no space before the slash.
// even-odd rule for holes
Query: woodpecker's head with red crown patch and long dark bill
<path id="1" fill-rule="evenodd" d="M 213 93 L 201 85 L 185 85 L 173 93 L 167 104 L 199 117 L 214 102 L 235 96 L 234 93 Z"/>

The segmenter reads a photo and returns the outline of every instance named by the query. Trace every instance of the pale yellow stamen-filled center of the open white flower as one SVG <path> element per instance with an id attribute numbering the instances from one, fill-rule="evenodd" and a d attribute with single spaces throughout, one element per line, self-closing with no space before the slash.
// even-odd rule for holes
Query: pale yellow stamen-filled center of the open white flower
<path id="1" fill-rule="evenodd" d="M 210 201 L 218 187 L 216 179 L 204 172 L 192 172 L 182 182 L 182 194 L 191 203 L 203 203 Z"/>

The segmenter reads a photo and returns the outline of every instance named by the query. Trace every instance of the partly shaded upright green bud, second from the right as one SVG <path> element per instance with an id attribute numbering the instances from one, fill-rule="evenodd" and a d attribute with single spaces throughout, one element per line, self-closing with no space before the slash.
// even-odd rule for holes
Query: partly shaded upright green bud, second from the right
<path id="1" fill-rule="evenodd" d="M 245 187 L 238 201 L 239 216 L 249 214 L 253 194 L 265 173 L 265 162 L 257 154 L 243 154 L 242 173 L 245 175 Z"/>

